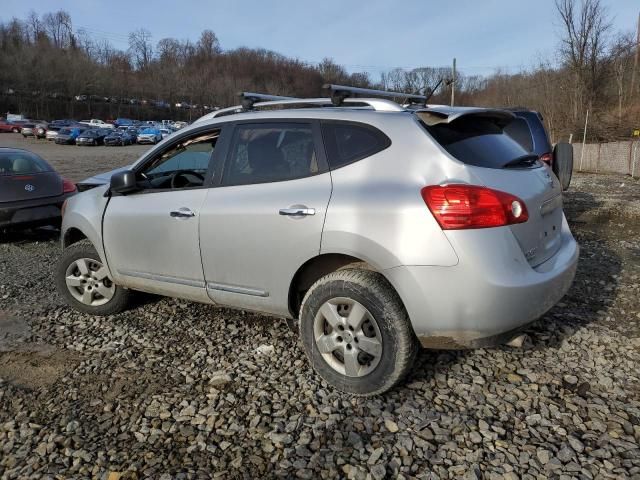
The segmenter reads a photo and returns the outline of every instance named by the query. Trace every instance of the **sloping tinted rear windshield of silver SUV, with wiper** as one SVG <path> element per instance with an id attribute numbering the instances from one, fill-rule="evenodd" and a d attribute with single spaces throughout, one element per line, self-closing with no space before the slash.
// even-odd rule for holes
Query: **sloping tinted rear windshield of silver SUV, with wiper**
<path id="1" fill-rule="evenodd" d="M 522 145 L 504 132 L 502 120 L 469 115 L 451 123 L 422 126 L 457 160 L 485 168 L 538 166 Z M 519 163 L 518 160 L 523 162 Z"/>

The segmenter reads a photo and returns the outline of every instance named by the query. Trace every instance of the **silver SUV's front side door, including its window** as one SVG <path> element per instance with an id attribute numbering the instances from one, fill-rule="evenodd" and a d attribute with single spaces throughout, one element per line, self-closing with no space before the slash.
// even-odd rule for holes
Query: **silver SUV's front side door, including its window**
<path id="1" fill-rule="evenodd" d="M 220 130 L 199 131 L 136 168 L 139 191 L 114 195 L 103 238 L 109 269 L 123 286 L 208 301 L 198 222 L 213 175 Z"/>

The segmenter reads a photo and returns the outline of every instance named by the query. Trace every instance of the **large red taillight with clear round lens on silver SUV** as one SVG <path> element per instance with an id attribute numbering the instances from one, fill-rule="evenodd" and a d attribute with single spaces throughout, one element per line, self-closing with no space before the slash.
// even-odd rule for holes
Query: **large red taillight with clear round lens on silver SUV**
<path id="1" fill-rule="evenodd" d="M 529 219 L 522 200 L 491 188 L 432 185 L 420 193 L 443 230 L 501 227 Z"/>

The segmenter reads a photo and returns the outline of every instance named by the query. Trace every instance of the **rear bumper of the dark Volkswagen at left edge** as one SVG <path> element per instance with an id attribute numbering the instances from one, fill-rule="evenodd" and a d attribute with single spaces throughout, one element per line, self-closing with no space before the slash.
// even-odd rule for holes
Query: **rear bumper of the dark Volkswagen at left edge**
<path id="1" fill-rule="evenodd" d="M 0 228 L 59 224 L 62 204 L 74 193 L 0 204 Z"/>

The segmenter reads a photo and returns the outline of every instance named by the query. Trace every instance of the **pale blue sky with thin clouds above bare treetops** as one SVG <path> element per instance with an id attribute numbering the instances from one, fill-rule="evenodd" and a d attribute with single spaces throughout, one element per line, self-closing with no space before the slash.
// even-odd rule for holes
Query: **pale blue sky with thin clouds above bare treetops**
<path id="1" fill-rule="evenodd" d="M 377 78 L 394 67 L 450 65 L 468 74 L 510 72 L 553 59 L 560 25 L 553 0 L 1 0 L 0 19 L 62 8 L 74 28 L 115 47 L 145 28 L 197 40 L 213 30 L 223 49 L 259 47 L 316 63 L 331 57 Z M 604 0 L 614 30 L 635 31 L 638 0 Z"/>

